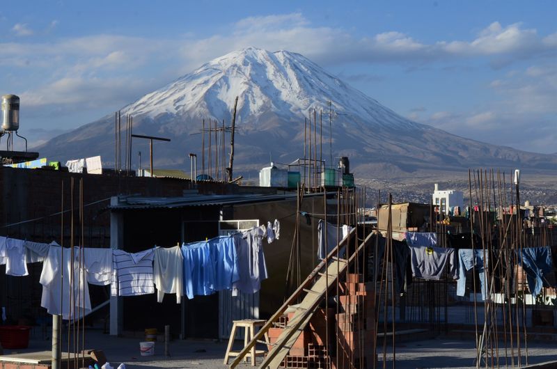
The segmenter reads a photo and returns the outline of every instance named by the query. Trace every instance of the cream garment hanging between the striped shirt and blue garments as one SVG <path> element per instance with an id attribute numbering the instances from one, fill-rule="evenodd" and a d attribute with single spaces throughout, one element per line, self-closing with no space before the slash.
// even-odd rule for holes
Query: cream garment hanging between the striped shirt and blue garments
<path id="1" fill-rule="evenodd" d="M 176 294 L 176 304 L 184 295 L 184 258 L 180 246 L 169 249 L 157 247 L 153 261 L 153 274 L 157 287 L 157 301 L 162 302 L 165 293 Z"/>

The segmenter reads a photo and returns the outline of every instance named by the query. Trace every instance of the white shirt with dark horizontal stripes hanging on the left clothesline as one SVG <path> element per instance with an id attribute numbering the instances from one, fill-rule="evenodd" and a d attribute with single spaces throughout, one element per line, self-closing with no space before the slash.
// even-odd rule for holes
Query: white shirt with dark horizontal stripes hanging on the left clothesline
<path id="1" fill-rule="evenodd" d="M 152 278 L 152 260 L 155 249 L 139 253 L 112 250 L 112 296 L 139 296 L 155 293 Z"/>

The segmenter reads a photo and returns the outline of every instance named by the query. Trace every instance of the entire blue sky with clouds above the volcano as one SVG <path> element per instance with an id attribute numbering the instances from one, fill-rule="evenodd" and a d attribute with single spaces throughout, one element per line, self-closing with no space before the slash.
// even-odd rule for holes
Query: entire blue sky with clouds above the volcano
<path id="1" fill-rule="evenodd" d="M 557 152 L 556 1 L 19 1 L 0 93 L 38 143 L 243 47 L 299 52 L 402 116 Z"/>

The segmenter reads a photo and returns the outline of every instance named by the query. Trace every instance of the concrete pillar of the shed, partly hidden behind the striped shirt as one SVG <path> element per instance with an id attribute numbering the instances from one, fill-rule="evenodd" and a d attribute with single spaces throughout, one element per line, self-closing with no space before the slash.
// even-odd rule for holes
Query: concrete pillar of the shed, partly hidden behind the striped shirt
<path id="1" fill-rule="evenodd" d="M 118 205 L 118 196 L 110 199 L 110 205 Z M 124 240 L 124 214 L 122 212 L 110 212 L 110 246 L 112 249 L 123 249 Z M 122 297 L 110 297 L 110 335 L 118 336 L 122 333 L 123 317 Z"/>

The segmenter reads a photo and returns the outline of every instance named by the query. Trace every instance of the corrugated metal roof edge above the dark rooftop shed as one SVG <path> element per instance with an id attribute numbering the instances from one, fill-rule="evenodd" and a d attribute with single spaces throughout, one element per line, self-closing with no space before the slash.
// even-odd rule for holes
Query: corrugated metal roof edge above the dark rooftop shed
<path id="1" fill-rule="evenodd" d="M 333 194 L 331 192 L 331 194 Z M 323 196 L 323 194 L 304 194 L 308 196 Z M 264 201 L 295 200 L 296 193 L 263 195 L 263 194 L 235 194 L 235 195 L 188 195 L 180 197 L 142 197 L 130 196 L 120 198 L 120 204 L 111 205 L 111 210 L 134 209 L 175 209 L 189 206 L 234 205 L 245 203 L 260 203 Z"/>

